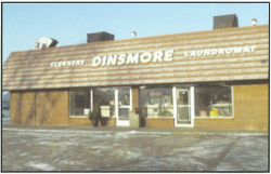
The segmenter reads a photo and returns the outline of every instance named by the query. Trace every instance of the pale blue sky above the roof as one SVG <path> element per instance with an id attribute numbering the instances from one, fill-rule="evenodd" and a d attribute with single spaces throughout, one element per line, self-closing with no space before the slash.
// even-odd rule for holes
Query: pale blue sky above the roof
<path id="1" fill-rule="evenodd" d="M 87 42 L 107 31 L 115 40 L 212 29 L 212 17 L 236 14 L 238 26 L 269 24 L 268 3 L 2 3 L 2 62 L 11 52 L 33 50 L 42 37 L 59 44 Z"/>

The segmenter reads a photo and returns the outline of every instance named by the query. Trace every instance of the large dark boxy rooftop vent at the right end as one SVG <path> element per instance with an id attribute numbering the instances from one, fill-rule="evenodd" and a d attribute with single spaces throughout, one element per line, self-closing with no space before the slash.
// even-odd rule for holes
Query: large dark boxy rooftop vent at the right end
<path id="1" fill-rule="evenodd" d="M 238 27 L 238 18 L 235 14 L 214 16 L 214 29 Z"/>

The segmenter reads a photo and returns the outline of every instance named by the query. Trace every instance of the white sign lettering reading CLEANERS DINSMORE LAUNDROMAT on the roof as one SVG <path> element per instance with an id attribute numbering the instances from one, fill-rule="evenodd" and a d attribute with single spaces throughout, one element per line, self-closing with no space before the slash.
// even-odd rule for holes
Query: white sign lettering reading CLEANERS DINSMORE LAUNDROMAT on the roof
<path id="1" fill-rule="evenodd" d="M 229 54 L 244 54 L 254 53 L 256 45 L 235 46 L 235 48 L 219 48 L 219 49 L 205 49 L 184 51 L 184 57 L 196 56 L 215 56 L 215 55 L 229 55 Z M 125 65 L 125 64 L 146 64 L 150 62 L 171 62 L 173 58 L 173 50 L 143 52 L 143 53 L 129 53 L 129 54 L 115 54 L 108 56 L 94 56 L 91 66 L 111 66 L 111 65 Z M 66 62 L 52 62 L 51 67 L 65 67 L 65 66 L 80 66 L 85 65 L 85 59 L 66 61 Z"/>

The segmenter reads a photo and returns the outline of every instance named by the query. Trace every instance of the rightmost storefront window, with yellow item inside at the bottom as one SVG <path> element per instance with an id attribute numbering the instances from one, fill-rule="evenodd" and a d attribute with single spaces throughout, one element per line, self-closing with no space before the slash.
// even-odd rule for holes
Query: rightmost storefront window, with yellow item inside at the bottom
<path id="1" fill-rule="evenodd" d="M 196 117 L 232 117 L 232 90 L 225 85 L 195 88 Z"/>

